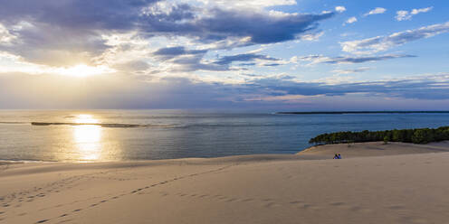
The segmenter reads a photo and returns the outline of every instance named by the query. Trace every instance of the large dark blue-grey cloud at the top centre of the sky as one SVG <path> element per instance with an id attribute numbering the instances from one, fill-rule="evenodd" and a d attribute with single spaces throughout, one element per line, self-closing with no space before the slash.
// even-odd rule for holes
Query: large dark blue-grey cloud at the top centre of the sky
<path id="1" fill-rule="evenodd" d="M 178 26 L 174 33 L 194 35 L 205 41 L 224 40 L 230 36 L 249 37 L 253 44 L 285 42 L 295 40 L 298 35 L 317 27 L 317 22 L 328 19 L 327 14 L 263 14 L 256 12 L 223 11 L 208 12 L 211 17 Z"/>

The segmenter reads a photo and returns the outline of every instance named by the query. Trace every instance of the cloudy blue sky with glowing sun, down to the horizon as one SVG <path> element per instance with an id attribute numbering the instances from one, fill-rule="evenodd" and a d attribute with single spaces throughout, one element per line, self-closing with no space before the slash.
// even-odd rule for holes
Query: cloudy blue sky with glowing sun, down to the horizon
<path id="1" fill-rule="evenodd" d="M 444 0 L 0 5 L 0 108 L 449 110 Z"/>

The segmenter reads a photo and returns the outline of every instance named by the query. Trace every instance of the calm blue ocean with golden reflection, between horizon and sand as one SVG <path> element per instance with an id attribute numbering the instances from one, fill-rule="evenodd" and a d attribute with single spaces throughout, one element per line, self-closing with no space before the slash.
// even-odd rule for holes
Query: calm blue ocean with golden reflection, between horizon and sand
<path id="1" fill-rule="evenodd" d="M 323 133 L 438 126 L 449 126 L 449 114 L 0 110 L 0 160 L 106 162 L 295 154 Z"/>

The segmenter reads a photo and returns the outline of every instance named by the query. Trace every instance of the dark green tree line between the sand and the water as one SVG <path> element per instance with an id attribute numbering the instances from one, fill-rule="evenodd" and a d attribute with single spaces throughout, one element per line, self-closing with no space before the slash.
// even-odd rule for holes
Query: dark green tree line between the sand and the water
<path id="1" fill-rule="evenodd" d="M 339 144 L 339 143 L 365 143 L 365 142 L 401 142 L 426 144 L 449 140 L 449 126 L 438 128 L 416 128 L 387 131 L 362 132 L 335 132 L 318 135 L 310 139 L 310 144 Z"/>

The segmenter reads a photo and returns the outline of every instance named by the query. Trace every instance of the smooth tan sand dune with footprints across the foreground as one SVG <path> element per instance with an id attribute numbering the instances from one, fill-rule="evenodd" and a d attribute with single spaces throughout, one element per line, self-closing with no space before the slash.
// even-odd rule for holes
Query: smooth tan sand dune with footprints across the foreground
<path id="1" fill-rule="evenodd" d="M 449 223 L 449 143 L 0 165 L 0 223 Z M 332 160 L 335 153 L 343 156 Z"/>

